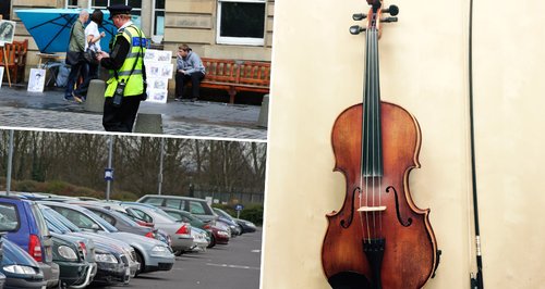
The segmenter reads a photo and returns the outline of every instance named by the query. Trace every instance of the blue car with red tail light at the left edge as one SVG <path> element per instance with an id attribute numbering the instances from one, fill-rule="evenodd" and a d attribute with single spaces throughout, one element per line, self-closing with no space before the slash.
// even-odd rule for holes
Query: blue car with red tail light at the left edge
<path id="1" fill-rule="evenodd" d="M 38 204 L 19 197 L 0 196 L 0 231 L 38 262 L 47 287 L 59 285 L 59 265 L 53 263 L 53 241 Z"/>

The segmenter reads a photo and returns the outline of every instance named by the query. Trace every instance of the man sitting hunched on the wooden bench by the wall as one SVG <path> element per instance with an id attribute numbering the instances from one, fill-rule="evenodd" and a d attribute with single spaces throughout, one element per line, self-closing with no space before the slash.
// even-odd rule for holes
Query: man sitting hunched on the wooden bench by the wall
<path id="1" fill-rule="evenodd" d="M 201 81 L 205 76 L 205 67 L 197 53 L 186 45 L 178 48 L 175 73 L 175 101 L 196 101 L 201 89 Z M 191 80 L 191 98 L 183 97 L 183 88 Z"/>

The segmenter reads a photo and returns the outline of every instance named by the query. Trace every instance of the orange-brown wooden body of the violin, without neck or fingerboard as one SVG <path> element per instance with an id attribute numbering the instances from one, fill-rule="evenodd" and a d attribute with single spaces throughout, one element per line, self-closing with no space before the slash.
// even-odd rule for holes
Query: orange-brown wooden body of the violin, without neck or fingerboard
<path id="1" fill-rule="evenodd" d="M 341 210 L 327 214 L 322 250 L 324 273 L 334 288 L 421 288 L 437 262 L 429 210 L 416 208 L 409 191 L 409 174 L 420 167 L 419 124 L 401 106 L 379 103 L 384 162 L 380 177 L 362 176 L 362 103 L 344 110 L 331 133 L 335 171 L 344 175 L 347 184 Z M 358 211 L 364 204 L 376 204 L 377 193 L 379 206 Z M 380 248 L 364 244 L 366 239 L 382 240 Z M 366 246 L 367 251 L 382 251 L 379 262 L 376 254 L 365 252 Z"/>

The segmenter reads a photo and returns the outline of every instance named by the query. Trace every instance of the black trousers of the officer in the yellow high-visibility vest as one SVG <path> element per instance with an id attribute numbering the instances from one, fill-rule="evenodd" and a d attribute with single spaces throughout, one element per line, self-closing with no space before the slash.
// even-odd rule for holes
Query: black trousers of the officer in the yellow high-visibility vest
<path id="1" fill-rule="evenodd" d="M 106 131 L 132 133 L 142 96 L 124 97 L 121 106 L 112 104 L 113 98 L 104 103 L 102 126 Z"/>

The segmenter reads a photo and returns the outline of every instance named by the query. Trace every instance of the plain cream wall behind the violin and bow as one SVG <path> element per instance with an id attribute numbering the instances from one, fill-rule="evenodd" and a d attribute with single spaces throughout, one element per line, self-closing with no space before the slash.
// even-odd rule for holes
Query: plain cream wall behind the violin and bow
<path id="1" fill-rule="evenodd" d="M 542 288 L 545 185 L 545 4 L 475 1 L 477 189 L 486 288 Z M 422 129 L 409 186 L 443 251 L 426 288 L 469 288 L 475 272 L 469 141 L 469 0 L 388 1 L 399 22 L 380 46 L 384 101 Z M 325 214 L 344 179 L 331 172 L 330 130 L 361 102 L 364 36 L 351 36 L 365 1 L 277 0 L 270 93 L 262 288 L 329 288 L 320 264 Z"/>

